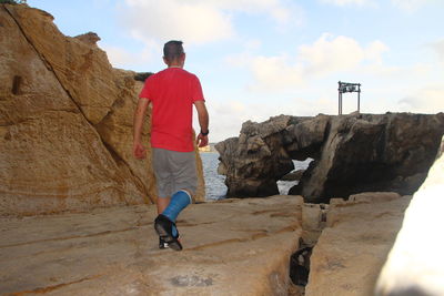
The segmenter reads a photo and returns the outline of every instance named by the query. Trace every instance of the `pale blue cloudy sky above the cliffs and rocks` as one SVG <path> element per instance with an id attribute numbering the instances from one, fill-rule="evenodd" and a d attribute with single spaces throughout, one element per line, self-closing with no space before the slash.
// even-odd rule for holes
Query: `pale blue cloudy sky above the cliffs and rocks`
<path id="1" fill-rule="evenodd" d="M 280 114 L 444 111 L 443 0 L 28 0 L 65 35 L 95 32 L 114 68 L 158 72 L 182 40 L 201 81 L 210 142 Z M 343 113 L 357 94 L 343 95 Z M 194 127 L 199 130 L 199 125 Z"/>

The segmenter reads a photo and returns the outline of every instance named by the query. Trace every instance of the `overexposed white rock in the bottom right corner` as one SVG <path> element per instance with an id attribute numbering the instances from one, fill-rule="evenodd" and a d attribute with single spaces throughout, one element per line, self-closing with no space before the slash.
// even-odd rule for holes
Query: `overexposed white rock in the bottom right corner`
<path id="1" fill-rule="evenodd" d="M 438 159 L 413 195 L 381 272 L 376 295 L 444 295 L 444 139 Z"/>

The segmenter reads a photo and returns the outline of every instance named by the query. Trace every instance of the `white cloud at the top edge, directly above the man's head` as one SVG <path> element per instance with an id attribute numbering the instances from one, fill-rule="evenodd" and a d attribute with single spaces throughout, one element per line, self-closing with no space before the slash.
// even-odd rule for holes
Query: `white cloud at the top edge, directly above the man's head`
<path id="1" fill-rule="evenodd" d="M 125 0 L 122 14 L 131 35 L 144 42 L 182 40 L 188 44 L 236 35 L 233 13 L 263 14 L 278 27 L 301 24 L 302 9 L 287 0 Z"/>

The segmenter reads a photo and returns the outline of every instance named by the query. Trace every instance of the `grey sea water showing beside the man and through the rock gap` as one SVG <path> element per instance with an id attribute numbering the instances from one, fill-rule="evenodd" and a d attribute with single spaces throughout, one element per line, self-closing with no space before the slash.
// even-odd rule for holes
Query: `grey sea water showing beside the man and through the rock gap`
<path id="1" fill-rule="evenodd" d="M 202 152 L 202 166 L 203 166 L 203 177 L 205 178 L 205 192 L 206 200 L 216 201 L 225 198 L 226 186 L 225 176 L 218 174 L 219 165 L 219 153 L 218 152 Z M 307 159 L 303 162 L 293 161 L 294 171 L 305 170 L 312 159 Z M 278 188 L 280 194 L 287 194 L 289 190 L 297 185 L 297 181 L 278 181 Z"/>

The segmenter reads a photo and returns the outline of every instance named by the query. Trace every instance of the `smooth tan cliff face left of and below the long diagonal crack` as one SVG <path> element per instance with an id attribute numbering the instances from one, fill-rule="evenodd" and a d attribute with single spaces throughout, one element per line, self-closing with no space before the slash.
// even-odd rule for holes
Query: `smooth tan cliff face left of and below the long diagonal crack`
<path id="1" fill-rule="evenodd" d="M 119 170 L 4 6 L 0 14 L 0 76 L 21 78 L 16 92 L 0 85 L 0 215 L 143 202 L 141 183 Z"/>

